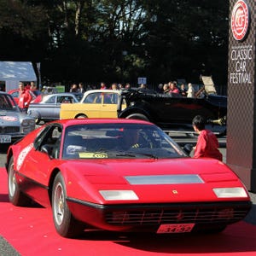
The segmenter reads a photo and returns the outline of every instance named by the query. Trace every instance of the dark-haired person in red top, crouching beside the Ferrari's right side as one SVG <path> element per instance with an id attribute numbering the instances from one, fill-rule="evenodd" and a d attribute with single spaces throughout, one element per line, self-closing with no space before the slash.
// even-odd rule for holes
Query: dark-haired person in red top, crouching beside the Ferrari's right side
<path id="1" fill-rule="evenodd" d="M 211 157 L 222 161 L 222 154 L 218 150 L 218 138 L 212 131 L 205 129 L 205 119 L 201 115 L 192 121 L 194 130 L 199 134 L 195 146 L 194 158 Z"/>

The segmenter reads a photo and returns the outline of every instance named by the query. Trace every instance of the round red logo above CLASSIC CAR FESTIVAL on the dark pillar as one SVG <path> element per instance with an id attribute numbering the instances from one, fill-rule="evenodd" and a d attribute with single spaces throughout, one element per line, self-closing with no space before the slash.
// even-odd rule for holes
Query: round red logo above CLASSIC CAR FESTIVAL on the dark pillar
<path id="1" fill-rule="evenodd" d="M 231 29 L 233 37 L 241 41 L 247 35 L 249 26 L 249 9 L 242 0 L 236 2 L 231 16 Z"/>

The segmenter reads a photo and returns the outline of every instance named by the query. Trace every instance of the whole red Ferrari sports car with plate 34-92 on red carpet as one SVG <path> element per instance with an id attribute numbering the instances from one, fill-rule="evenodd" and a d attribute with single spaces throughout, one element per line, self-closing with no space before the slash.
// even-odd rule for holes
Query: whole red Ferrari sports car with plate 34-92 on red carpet
<path id="1" fill-rule="evenodd" d="M 247 215 L 247 189 L 223 162 L 190 158 L 152 123 L 63 119 L 9 147 L 9 201 L 51 207 L 61 236 L 94 227 L 224 230 Z"/>

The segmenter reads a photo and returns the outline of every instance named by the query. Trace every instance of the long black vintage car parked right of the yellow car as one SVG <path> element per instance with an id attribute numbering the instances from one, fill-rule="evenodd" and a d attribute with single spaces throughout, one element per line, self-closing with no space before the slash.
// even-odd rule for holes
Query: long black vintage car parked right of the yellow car
<path id="1" fill-rule="evenodd" d="M 127 108 L 121 110 L 125 101 Z M 207 119 L 207 128 L 222 136 L 226 131 L 227 96 L 205 93 L 195 98 L 162 94 L 154 90 L 124 90 L 118 106 L 119 118 L 144 119 L 164 131 L 193 132 L 196 115 Z"/>

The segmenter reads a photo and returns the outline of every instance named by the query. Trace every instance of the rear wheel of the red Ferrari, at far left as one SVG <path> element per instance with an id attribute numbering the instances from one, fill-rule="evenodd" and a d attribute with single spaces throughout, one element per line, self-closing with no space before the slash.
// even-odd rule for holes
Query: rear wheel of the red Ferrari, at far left
<path id="1" fill-rule="evenodd" d="M 25 207 L 30 203 L 30 199 L 24 195 L 16 182 L 14 157 L 9 160 L 8 166 L 8 195 L 9 201 L 16 207 Z"/>

